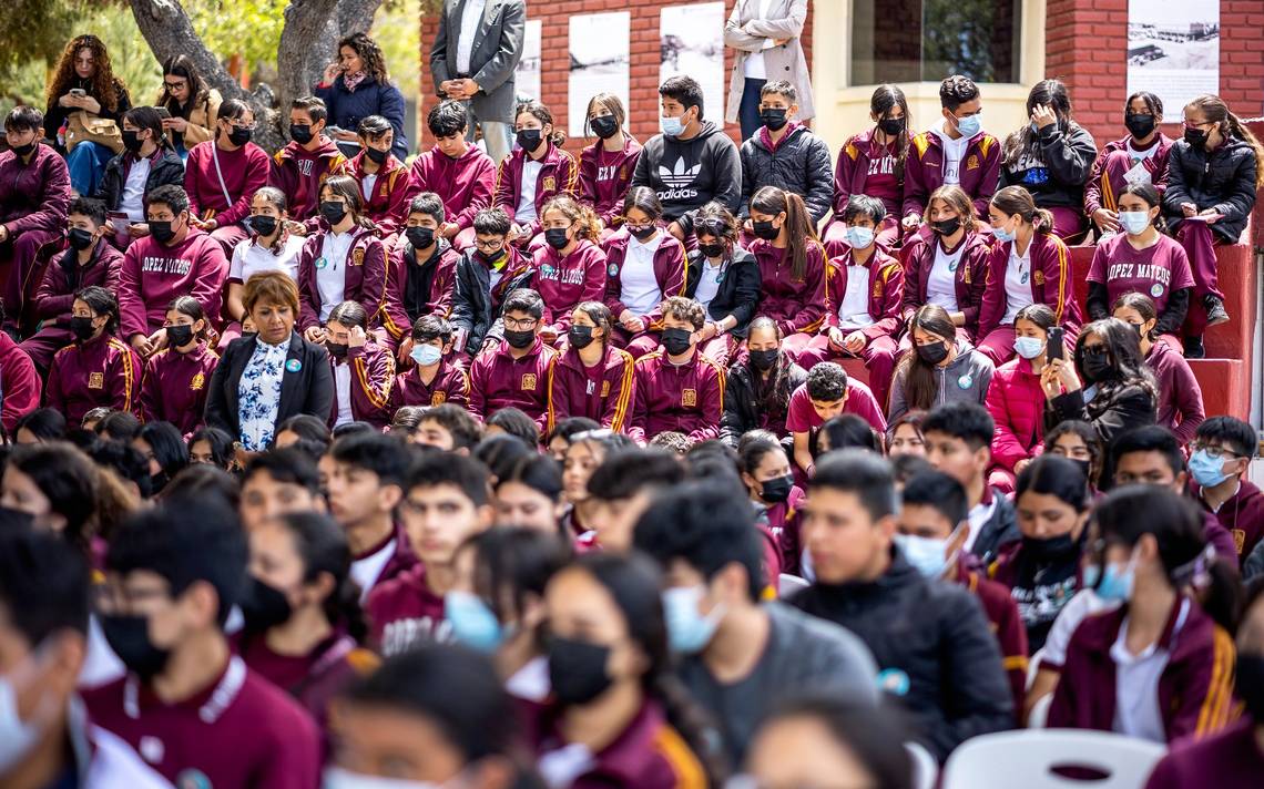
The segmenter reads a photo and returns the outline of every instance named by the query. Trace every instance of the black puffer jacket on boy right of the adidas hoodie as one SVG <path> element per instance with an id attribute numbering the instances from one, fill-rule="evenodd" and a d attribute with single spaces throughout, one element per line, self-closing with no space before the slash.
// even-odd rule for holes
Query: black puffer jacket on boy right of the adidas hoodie
<path id="1" fill-rule="evenodd" d="M 780 187 L 803 197 L 811 221 L 819 223 L 834 202 L 834 172 L 829 145 L 805 126 L 796 126 L 769 150 L 762 134 L 742 143 L 742 206 L 738 217 L 751 216 L 751 196 L 760 187 Z"/>

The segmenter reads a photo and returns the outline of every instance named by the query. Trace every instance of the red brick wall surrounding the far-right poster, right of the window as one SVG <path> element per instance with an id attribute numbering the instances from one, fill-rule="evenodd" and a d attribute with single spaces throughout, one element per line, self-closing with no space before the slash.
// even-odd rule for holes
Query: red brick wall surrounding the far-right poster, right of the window
<path id="1" fill-rule="evenodd" d="M 1196 1 L 1196 0 L 1191 0 Z M 1264 115 L 1264 3 L 1220 3 L 1220 95 L 1243 117 Z M 1127 0 L 1048 0 L 1045 74 L 1071 88 L 1076 119 L 1098 144 L 1124 135 L 1127 98 Z M 1181 107 L 1165 107 L 1179 121 Z M 1168 134 L 1176 126 L 1167 129 Z"/>

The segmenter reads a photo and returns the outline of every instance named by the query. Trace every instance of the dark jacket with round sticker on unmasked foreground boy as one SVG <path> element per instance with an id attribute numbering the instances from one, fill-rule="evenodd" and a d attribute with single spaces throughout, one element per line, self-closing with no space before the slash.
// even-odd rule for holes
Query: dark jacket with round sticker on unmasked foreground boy
<path id="1" fill-rule="evenodd" d="M 878 688 L 909 711 L 914 737 L 940 762 L 969 737 L 1014 727 L 1014 696 L 978 598 L 923 578 L 899 549 L 872 583 L 815 583 L 789 602 L 865 641 Z"/>

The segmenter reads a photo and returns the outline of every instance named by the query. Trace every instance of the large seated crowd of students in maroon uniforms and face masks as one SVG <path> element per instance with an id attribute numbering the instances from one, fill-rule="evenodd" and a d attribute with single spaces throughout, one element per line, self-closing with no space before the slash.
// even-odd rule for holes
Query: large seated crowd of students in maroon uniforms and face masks
<path id="1" fill-rule="evenodd" d="M 92 37 L 5 119 L 0 784 L 895 789 L 1042 722 L 1255 780 L 1258 442 L 1186 361 L 1264 178 L 1221 100 L 1098 154 L 1057 81 L 1004 143 L 882 86 L 830 172 L 794 86 L 738 148 L 672 77 L 494 165 L 340 63 L 273 157 Z"/>

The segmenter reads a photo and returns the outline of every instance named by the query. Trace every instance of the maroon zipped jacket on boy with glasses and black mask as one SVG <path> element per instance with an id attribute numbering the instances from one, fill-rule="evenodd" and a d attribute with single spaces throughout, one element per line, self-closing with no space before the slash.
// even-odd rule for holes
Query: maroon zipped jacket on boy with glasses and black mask
<path id="1" fill-rule="evenodd" d="M 549 427 L 549 377 L 557 352 L 536 341 L 521 359 L 509 356 L 509 343 L 480 353 L 470 365 L 469 410 L 483 422 L 502 408 L 517 408 L 536 420 L 540 433 Z"/>

